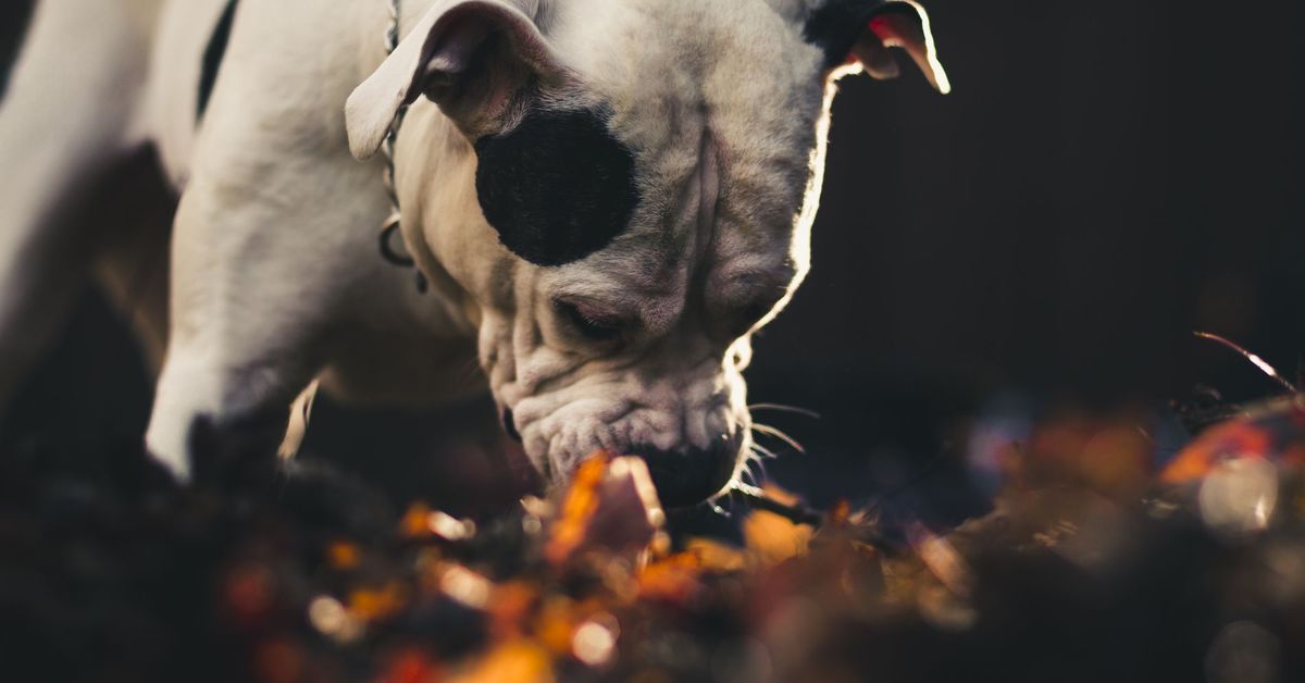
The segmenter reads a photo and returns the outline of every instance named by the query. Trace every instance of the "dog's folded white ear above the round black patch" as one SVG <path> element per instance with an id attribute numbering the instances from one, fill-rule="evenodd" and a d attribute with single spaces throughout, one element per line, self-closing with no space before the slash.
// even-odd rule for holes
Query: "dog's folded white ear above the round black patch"
<path id="1" fill-rule="evenodd" d="M 562 73 L 535 25 L 539 0 L 440 0 L 345 104 L 348 148 L 368 159 L 399 108 L 425 94 L 468 137 L 501 127 L 540 81 Z"/>

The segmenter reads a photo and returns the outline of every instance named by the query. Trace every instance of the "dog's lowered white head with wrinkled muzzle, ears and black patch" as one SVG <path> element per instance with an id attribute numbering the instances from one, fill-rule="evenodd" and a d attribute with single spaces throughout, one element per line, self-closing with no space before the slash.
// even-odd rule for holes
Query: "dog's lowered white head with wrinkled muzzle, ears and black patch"
<path id="1" fill-rule="evenodd" d="M 887 47 L 949 89 L 907 1 L 437 0 L 354 93 L 360 158 L 402 104 L 442 112 L 405 129 L 440 153 L 405 180 L 408 242 L 466 293 L 542 471 L 637 453 L 672 505 L 737 474 L 740 372 L 808 270 L 831 84 L 895 76 Z"/>

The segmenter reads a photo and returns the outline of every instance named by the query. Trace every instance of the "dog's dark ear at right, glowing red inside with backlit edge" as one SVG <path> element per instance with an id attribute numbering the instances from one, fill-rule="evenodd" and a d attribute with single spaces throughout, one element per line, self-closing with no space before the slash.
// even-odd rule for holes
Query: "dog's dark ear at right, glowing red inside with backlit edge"
<path id="1" fill-rule="evenodd" d="M 929 85 L 951 91 L 947 72 L 938 61 L 929 14 L 914 0 L 826 0 L 806 17 L 805 38 L 825 51 L 826 67 L 860 63 L 874 78 L 900 73 L 891 47 L 906 50 Z"/>

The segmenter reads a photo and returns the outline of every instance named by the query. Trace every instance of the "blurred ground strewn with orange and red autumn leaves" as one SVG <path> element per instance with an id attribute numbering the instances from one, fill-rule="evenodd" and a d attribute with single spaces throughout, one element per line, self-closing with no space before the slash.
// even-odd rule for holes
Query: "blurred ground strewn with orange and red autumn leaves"
<path id="1" fill-rule="evenodd" d="M 1232 413 L 1163 464 L 1133 415 L 979 423 L 992 513 L 739 501 L 743 543 L 668 533 L 630 458 L 462 520 L 312 466 L 179 490 L 132 452 L 7 457 L 0 676 L 1305 680 L 1305 400 Z"/>

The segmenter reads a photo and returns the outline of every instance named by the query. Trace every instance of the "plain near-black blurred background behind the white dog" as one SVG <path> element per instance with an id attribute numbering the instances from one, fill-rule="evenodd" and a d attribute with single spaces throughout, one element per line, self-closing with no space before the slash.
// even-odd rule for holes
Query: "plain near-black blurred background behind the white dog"
<path id="1" fill-rule="evenodd" d="M 911 68 L 843 82 L 814 270 L 756 345 L 752 398 L 823 415 L 758 414 L 809 447 L 770 465 L 782 482 L 817 501 L 891 488 L 1011 392 L 1104 409 L 1198 383 L 1235 398 L 1271 389 L 1194 329 L 1296 370 L 1300 4 L 927 4 L 955 93 L 937 97 Z M 0 7 L 5 52 L 25 9 Z M 0 439 L 89 457 L 138 440 L 147 401 L 123 325 L 87 291 Z M 328 406 L 312 449 L 438 498 L 452 475 L 429 453 L 476 443 L 492 421 L 482 405 Z"/>

